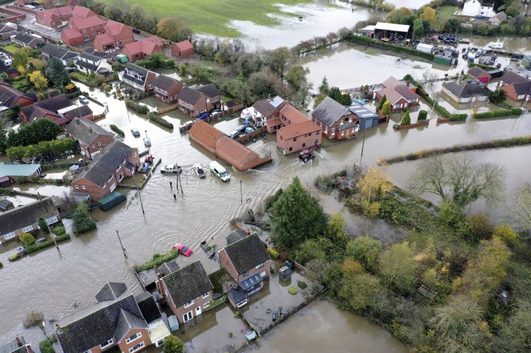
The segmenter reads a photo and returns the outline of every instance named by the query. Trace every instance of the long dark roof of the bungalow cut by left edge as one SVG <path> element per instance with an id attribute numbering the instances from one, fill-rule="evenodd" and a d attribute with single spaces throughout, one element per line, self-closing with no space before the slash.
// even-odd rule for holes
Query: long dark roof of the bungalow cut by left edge
<path id="1" fill-rule="evenodd" d="M 58 217 L 52 198 L 44 198 L 10 211 L 0 213 L 0 236 L 39 222 L 39 218 Z"/>

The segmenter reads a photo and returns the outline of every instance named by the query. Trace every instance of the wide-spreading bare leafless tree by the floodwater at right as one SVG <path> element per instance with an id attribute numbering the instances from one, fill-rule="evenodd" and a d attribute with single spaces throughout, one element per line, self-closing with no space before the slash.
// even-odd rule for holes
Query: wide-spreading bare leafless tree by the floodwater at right
<path id="1" fill-rule="evenodd" d="M 476 163 L 458 155 L 438 155 L 423 160 L 410 182 L 417 193 L 435 193 L 465 207 L 479 199 L 494 205 L 503 197 L 504 175 L 496 163 Z"/>

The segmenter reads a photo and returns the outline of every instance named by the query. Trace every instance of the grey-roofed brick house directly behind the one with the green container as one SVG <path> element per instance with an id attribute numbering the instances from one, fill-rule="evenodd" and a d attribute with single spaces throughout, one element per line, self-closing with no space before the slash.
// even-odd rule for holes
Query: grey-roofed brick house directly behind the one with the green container
<path id="1" fill-rule="evenodd" d="M 94 158 L 104 151 L 108 144 L 114 142 L 113 133 L 106 131 L 91 120 L 80 119 L 79 117 L 76 117 L 66 126 L 66 133 L 79 142 L 81 154 L 88 158 Z"/>

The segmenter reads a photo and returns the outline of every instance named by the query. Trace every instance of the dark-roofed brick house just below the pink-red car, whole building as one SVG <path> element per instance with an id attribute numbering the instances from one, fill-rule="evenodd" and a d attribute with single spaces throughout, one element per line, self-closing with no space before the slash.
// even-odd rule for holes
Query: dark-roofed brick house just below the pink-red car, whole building
<path id="1" fill-rule="evenodd" d="M 210 306 L 214 286 L 207 272 L 196 261 L 158 280 L 158 290 L 166 298 L 179 323 L 187 323 Z"/>

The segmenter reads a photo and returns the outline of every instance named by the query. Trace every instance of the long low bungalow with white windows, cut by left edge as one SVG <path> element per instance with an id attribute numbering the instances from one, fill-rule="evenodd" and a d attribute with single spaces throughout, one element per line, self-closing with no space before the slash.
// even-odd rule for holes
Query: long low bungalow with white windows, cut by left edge
<path id="1" fill-rule="evenodd" d="M 50 197 L 0 213 L 0 244 L 17 239 L 21 233 L 36 231 L 41 218 L 48 225 L 59 222 L 59 211 Z"/>

